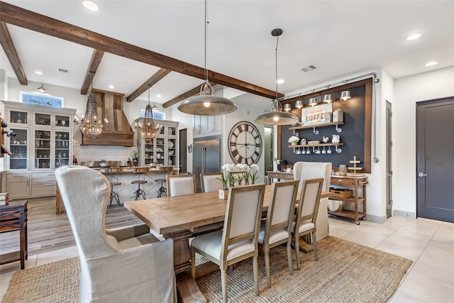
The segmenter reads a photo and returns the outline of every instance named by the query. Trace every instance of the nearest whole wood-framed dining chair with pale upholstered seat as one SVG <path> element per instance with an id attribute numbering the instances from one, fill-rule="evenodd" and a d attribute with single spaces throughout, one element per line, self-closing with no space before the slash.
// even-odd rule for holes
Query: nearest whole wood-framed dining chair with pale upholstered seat
<path id="1" fill-rule="evenodd" d="M 191 242 L 191 272 L 195 279 L 195 255 L 199 253 L 221 269 L 222 297 L 227 302 L 227 268 L 253 257 L 255 295 L 258 296 L 258 234 L 265 184 L 229 189 L 222 231 L 196 236 Z"/>

